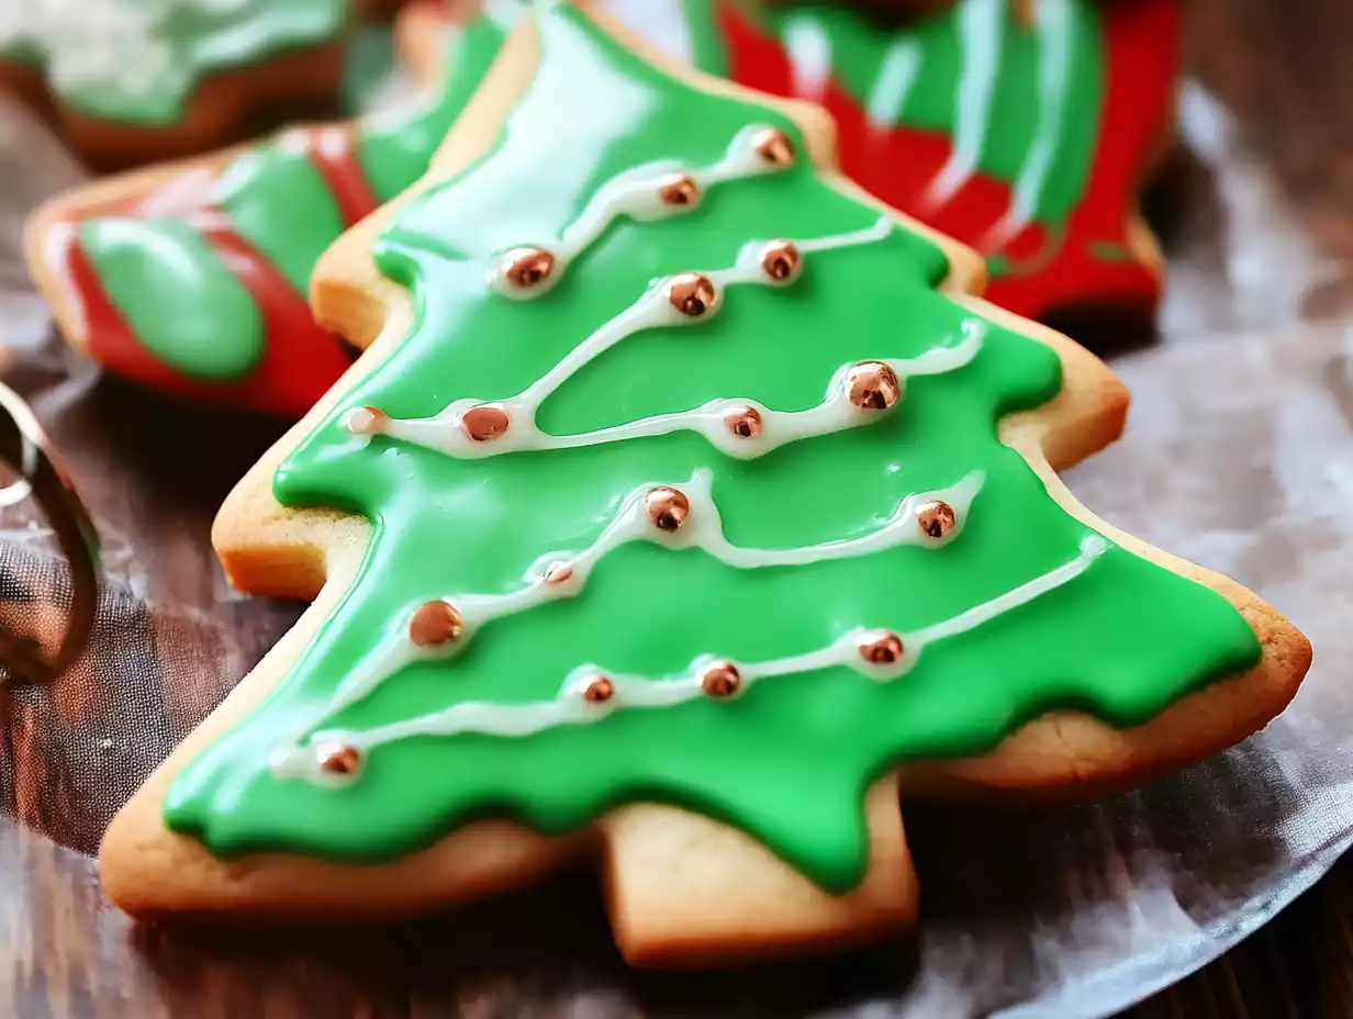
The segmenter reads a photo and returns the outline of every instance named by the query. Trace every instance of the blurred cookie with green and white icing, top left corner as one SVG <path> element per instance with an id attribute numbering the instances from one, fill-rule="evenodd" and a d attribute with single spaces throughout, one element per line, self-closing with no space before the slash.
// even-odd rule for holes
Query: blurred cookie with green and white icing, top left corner
<path id="1" fill-rule="evenodd" d="M 202 152 L 279 101 L 331 95 L 353 0 L 11 0 L 0 87 L 97 165 Z"/>

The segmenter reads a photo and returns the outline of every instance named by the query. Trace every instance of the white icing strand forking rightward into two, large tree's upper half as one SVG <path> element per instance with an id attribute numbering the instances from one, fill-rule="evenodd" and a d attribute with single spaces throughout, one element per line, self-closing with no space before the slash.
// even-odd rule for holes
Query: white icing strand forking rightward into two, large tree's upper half
<path id="1" fill-rule="evenodd" d="M 892 234 L 894 226 L 892 218 L 884 217 L 870 227 L 835 237 L 800 241 L 796 246 L 802 254 L 812 254 L 833 248 L 871 244 L 885 240 Z M 705 275 L 716 287 L 743 283 L 781 286 L 760 268 L 759 253 L 763 246 L 764 242 L 755 241 L 744 246 L 737 265 Z M 595 432 L 572 436 L 552 436 L 543 432 L 536 425 L 536 411 L 540 405 L 602 353 L 645 329 L 694 325 L 717 314 L 721 300 L 700 318 L 683 315 L 667 299 L 667 286 L 668 281 L 664 281 L 649 290 L 635 304 L 570 350 L 561 361 L 524 392 L 494 402 L 492 406 L 507 414 L 510 426 L 492 441 L 476 443 L 461 428 L 465 413 L 483 406 L 483 401 L 474 398 L 456 401 L 432 418 L 388 418 L 382 424 L 380 432 L 400 441 L 436 449 L 446 456 L 469 460 L 521 451 L 574 449 L 689 430 L 702 434 L 728 456 L 754 459 L 801 438 L 825 436 L 879 420 L 878 411 L 861 410 L 850 402 L 847 376 L 855 365 L 847 364 L 832 378 L 824 401 L 808 410 L 778 411 L 747 399 L 716 399 L 694 410 L 659 414 Z M 971 318 L 963 322 L 962 329 L 963 337 L 954 346 L 935 348 L 913 359 L 884 359 L 884 363 L 894 371 L 900 382 L 913 376 L 939 375 L 962 368 L 981 350 L 985 323 Z M 760 415 L 762 429 L 756 436 L 739 437 L 727 428 L 724 418 L 729 413 L 748 407 Z"/>

